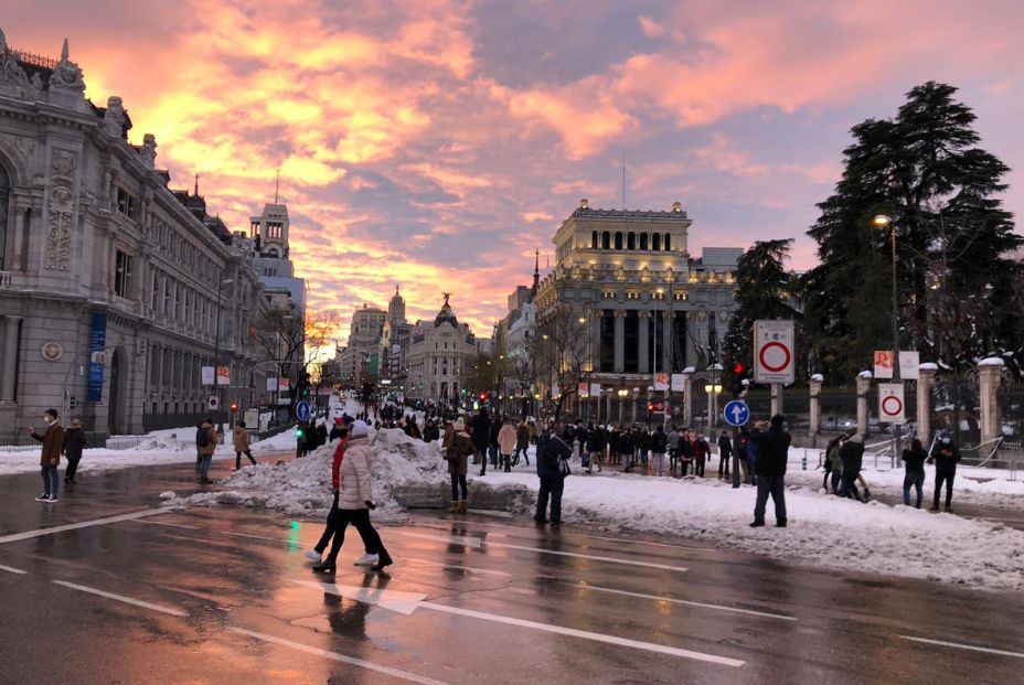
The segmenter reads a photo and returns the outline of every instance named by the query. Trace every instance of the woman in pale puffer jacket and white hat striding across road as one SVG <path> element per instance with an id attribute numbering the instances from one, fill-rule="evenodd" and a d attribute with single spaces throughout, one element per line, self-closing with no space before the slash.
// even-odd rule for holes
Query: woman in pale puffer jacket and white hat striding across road
<path id="1" fill-rule="evenodd" d="M 335 571 L 338 553 L 344 545 L 345 528 L 350 524 L 355 526 L 362 538 L 366 540 L 366 553 L 377 555 L 377 563 L 372 566 L 373 570 L 384 570 L 384 567 L 394 563 L 387 549 L 384 548 L 384 543 L 381 542 L 381 535 L 370 523 L 370 511 L 376 509 L 376 505 L 373 503 L 373 486 L 370 480 L 370 461 L 373 451 L 370 449 L 369 435 L 370 427 L 365 421 L 352 424 L 352 437 L 340 460 L 337 482 L 333 480 L 332 465 L 331 484 L 338 494 L 338 506 L 331 510 L 331 514 L 335 516 L 334 540 L 331 543 L 327 559 L 314 564 L 313 571 L 324 574 Z"/>

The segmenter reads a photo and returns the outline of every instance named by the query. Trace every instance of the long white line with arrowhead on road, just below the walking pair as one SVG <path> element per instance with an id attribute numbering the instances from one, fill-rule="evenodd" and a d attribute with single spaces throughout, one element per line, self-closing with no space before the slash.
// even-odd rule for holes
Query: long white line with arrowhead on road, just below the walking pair
<path id="1" fill-rule="evenodd" d="M 512 617 L 501 616 L 498 613 L 487 613 L 484 611 L 473 611 L 472 609 L 462 609 L 460 607 L 438 604 L 435 602 L 425 601 L 427 596 L 422 592 L 382 590 L 362 586 L 332 585 L 327 582 L 312 582 L 308 580 L 292 580 L 292 582 L 318 590 L 323 590 L 324 592 L 330 592 L 331 595 L 338 595 L 339 597 L 344 597 L 345 599 L 353 599 L 363 603 L 381 607 L 383 609 L 390 609 L 391 611 L 397 611 L 405 616 L 412 616 L 412 613 L 417 609 L 429 609 L 431 611 L 462 616 L 471 619 L 480 619 L 482 621 L 490 621 L 492 623 L 504 623 L 505 625 L 529 628 L 531 630 L 567 635 L 569 638 L 580 638 L 583 640 L 590 640 L 593 642 L 604 642 L 617 646 L 633 647 L 648 652 L 657 652 L 659 654 L 668 654 L 670 656 L 681 656 L 683 659 L 692 659 L 696 661 L 719 664 L 723 666 L 739 667 L 745 665 L 745 662 L 737 659 L 718 656 L 716 654 L 706 654 L 704 652 L 694 652 L 692 650 L 681 650 L 679 647 L 654 644 L 652 642 L 629 640 L 619 635 L 606 635 L 604 633 L 577 630 L 575 628 L 564 628 L 562 625 L 540 623 L 537 621 L 527 621 L 525 619 L 514 619 Z"/>

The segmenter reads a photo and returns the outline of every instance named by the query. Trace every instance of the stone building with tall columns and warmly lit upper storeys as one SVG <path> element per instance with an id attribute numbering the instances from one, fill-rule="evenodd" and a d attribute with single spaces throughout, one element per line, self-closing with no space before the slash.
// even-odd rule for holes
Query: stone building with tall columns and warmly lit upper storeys
<path id="1" fill-rule="evenodd" d="M 537 333 L 566 312 L 578 317 L 589 382 L 612 390 L 646 390 L 655 372 L 717 360 L 743 249 L 708 247 L 692 258 L 692 223 L 678 202 L 664 212 L 593 210 L 583 200 L 553 238 L 556 264 L 535 299 Z"/>

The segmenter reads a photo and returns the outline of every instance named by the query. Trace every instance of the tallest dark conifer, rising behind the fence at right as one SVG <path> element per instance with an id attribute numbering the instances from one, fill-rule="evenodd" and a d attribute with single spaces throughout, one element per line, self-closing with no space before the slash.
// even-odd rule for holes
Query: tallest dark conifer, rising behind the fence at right
<path id="1" fill-rule="evenodd" d="M 853 378 L 871 351 L 892 347 L 888 231 L 896 233 L 900 349 L 958 368 L 1012 353 L 1006 308 L 1010 253 L 1021 245 L 999 193 L 1009 171 L 974 146 L 975 116 L 956 88 L 935 82 L 907 94 L 892 120 L 855 126 L 835 192 L 808 234 L 821 264 L 803 279 L 806 327 L 826 378 Z M 885 214 L 885 231 L 872 220 Z"/>

